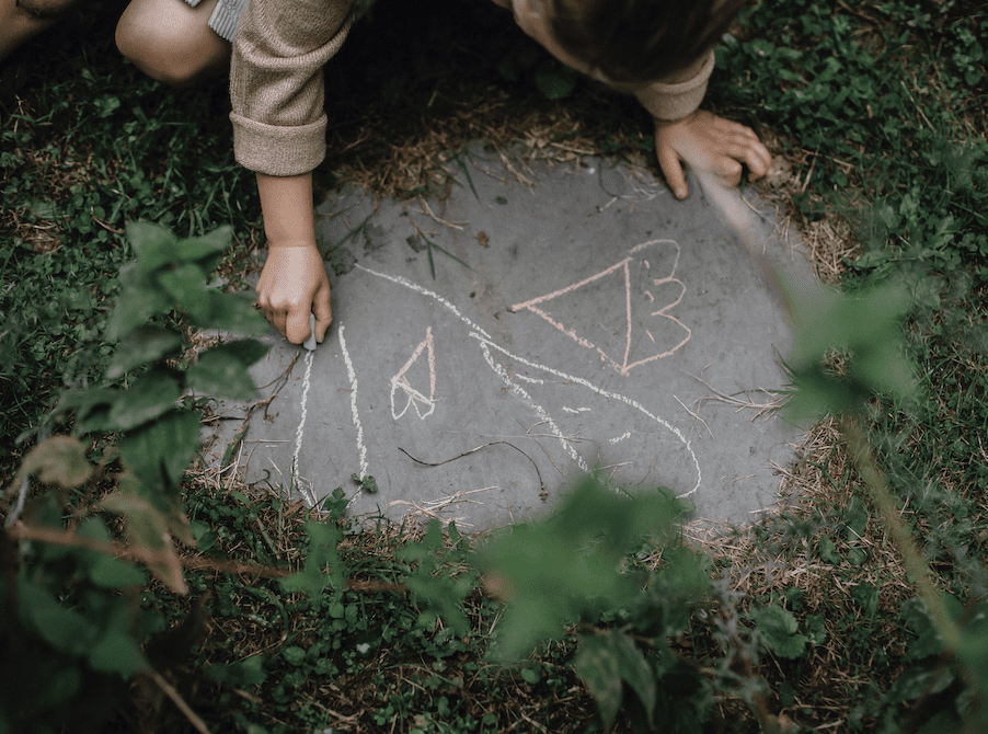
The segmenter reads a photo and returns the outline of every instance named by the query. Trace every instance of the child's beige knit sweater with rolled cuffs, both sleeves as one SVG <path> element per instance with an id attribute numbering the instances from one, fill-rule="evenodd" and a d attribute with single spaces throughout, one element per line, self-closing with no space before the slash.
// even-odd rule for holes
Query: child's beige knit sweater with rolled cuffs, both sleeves
<path id="1" fill-rule="evenodd" d="M 288 176 L 322 162 L 326 149 L 322 67 L 346 38 L 352 4 L 352 0 L 250 0 L 233 39 L 230 66 L 233 152 L 242 165 Z M 711 51 L 686 81 L 655 82 L 635 94 L 655 117 L 677 119 L 700 105 L 712 70 Z"/>

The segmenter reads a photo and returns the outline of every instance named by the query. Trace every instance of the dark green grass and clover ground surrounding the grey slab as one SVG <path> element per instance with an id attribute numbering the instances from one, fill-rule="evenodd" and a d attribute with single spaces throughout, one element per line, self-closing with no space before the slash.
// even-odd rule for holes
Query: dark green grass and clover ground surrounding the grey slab
<path id="1" fill-rule="evenodd" d="M 549 100 L 538 80 L 544 89 L 559 69 L 504 13 L 420 4 L 410 21 L 397 0 L 381 0 L 328 69 L 337 152 L 319 172 L 323 190 L 441 192 L 453 183 L 445 164 L 476 138 L 518 141 L 531 157 L 589 151 L 651 164 L 648 121 L 631 101 L 583 80 Z M 2 113 L 3 486 L 37 437 L 60 429 L 47 418 L 60 391 L 105 372 L 101 333 L 131 256 L 120 237 L 128 219 L 182 233 L 231 223 L 238 241 L 223 268 L 234 282 L 261 239 L 252 176 L 232 160 L 223 82 L 174 92 L 142 78 L 113 48 L 122 3 L 93 5 L 23 49 L 27 83 Z M 986 36 L 988 14 L 973 0 L 762 3 L 719 51 L 709 93 L 784 159 L 774 197 L 822 277 L 849 289 L 905 277 L 915 293 L 908 333 L 924 397 L 875 399 L 868 429 L 938 584 L 961 600 L 988 594 Z M 915 592 L 836 424 L 817 425 L 802 454 L 778 516 L 693 538 L 744 595 L 738 619 L 780 605 L 812 643 L 795 658 L 760 649 L 749 675 L 765 678 L 767 706 L 791 731 L 949 721 L 963 702 L 958 684 L 907 687 L 939 662 L 920 644 Z M 204 475 L 186 494 L 204 558 L 301 562 L 297 505 Z M 188 572 L 192 601 L 150 586 L 148 654 L 217 731 L 581 731 L 594 704 L 567 665 L 572 642 L 499 672 L 482 652 L 501 606 L 480 588 L 467 598 L 466 638 L 393 590 L 407 570 L 400 549 L 420 535 L 351 525 L 352 583 L 319 604 L 276 580 L 208 566 Z M 698 617 L 677 649 L 716 660 L 727 643 L 715 632 Z M 135 700 L 120 731 L 187 725 L 157 689 Z M 756 716 L 725 687 L 708 729 L 755 731 Z"/>

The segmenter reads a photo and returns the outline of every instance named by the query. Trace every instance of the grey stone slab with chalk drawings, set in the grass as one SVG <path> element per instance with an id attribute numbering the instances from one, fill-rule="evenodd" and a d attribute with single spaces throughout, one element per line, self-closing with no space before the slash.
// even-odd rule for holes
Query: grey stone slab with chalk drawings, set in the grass
<path id="1" fill-rule="evenodd" d="M 245 480 L 475 529 L 587 473 L 669 486 L 713 520 L 771 506 L 802 439 L 763 409 L 791 335 L 698 182 L 677 202 L 602 160 L 522 170 L 478 145 L 463 162 L 441 204 L 349 191 L 318 207 L 334 323 L 314 352 L 267 337 Z M 773 226 L 766 253 L 808 279 Z M 218 455 L 239 428 L 222 425 Z"/>

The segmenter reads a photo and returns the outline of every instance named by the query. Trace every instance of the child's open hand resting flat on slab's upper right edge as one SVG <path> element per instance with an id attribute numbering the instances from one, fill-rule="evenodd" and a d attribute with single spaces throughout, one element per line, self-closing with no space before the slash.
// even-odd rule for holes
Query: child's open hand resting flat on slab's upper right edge
<path id="1" fill-rule="evenodd" d="M 666 182 L 676 195 L 687 195 L 681 162 L 713 171 L 728 185 L 740 183 L 742 163 L 751 180 L 772 168 L 772 157 L 750 127 L 698 110 L 677 121 L 655 119 L 655 152 Z"/>

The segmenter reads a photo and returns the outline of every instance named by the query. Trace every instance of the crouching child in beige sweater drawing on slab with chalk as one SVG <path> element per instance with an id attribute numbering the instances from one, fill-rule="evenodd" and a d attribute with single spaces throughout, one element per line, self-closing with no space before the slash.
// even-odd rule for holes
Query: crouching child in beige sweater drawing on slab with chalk
<path id="1" fill-rule="evenodd" d="M 0 0 L 0 8 L 15 1 L 67 2 Z M 332 321 L 312 208 L 312 170 L 325 156 L 322 67 L 349 31 L 354 0 L 186 2 L 197 7 L 133 0 L 117 45 L 152 77 L 186 84 L 223 68 L 232 39 L 233 149 L 256 173 L 268 243 L 257 307 L 295 344 L 309 337 L 314 313 L 321 342 Z M 356 0 L 356 12 L 370 2 Z M 687 195 L 681 162 L 731 185 L 740 182 L 743 163 L 753 179 L 769 172 L 771 157 L 753 130 L 698 108 L 713 69 L 712 46 L 744 0 L 494 2 L 564 64 L 637 96 L 655 121 L 658 163 L 677 198 Z"/>

